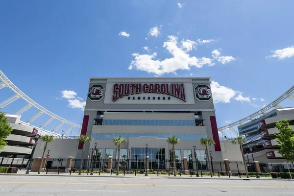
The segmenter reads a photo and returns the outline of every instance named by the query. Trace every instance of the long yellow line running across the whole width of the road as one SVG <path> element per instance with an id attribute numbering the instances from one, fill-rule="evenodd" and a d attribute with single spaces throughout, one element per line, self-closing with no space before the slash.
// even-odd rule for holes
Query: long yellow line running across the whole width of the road
<path id="1" fill-rule="evenodd" d="M 294 188 L 294 186 L 245 186 L 245 185 L 189 185 L 189 184 L 118 184 L 118 183 L 74 183 L 74 182 L 0 182 L 0 184 L 68 184 L 109 186 L 166 186 L 166 187 L 250 187 L 250 188 Z"/>

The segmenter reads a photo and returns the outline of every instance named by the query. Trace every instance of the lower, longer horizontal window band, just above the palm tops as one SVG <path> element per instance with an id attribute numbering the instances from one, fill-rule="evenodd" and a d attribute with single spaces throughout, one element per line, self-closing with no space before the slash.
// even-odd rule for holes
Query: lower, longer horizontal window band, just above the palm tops
<path id="1" fill-rule="evenodd" d="M 157 137 L 168 138 L 175 135 L 180 141 L 185 140 L 200 140 L 200 138 L 206 138 L 206 134 L 152 134 L 152 133 L 92 133 L 92 139 L 98 140 L 112 140 L 114 137 L 121 135 L 124 139 L 139 138 L 139 137 Z"/>

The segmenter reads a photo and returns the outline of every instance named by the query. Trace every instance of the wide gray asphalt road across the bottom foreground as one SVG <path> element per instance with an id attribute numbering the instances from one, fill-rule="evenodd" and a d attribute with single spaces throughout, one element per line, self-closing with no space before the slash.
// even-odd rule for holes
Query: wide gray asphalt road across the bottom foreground
<path id="1" fill-rule="evenodd" d="M 0 196 L 294 196 L 294 181 L 0 176 Z"/>

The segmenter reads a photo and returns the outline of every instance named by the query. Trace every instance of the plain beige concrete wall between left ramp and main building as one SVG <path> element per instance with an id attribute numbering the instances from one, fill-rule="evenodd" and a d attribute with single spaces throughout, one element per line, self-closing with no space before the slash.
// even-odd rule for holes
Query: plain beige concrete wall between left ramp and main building
<path id="1" fill-rule="evenodd" d="M 45 155 L 47 155 L 47 150 L 49 149 L 50 158 L 67 159 L 69 156 L 75 158 L 77 144 L 77 139 L 55 139 L 54 142 L 48 143 Z M 42 157 L 44 146 L 45 143 L 41 140 L 38 140 L 33 157 Z"/>

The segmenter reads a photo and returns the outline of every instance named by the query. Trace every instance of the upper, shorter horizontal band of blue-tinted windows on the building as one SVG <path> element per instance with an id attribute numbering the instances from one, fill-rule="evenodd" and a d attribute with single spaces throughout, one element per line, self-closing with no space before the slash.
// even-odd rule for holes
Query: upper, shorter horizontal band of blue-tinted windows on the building
<path id="1" fill-rule="evenodd" d="M 195 120 L 108 120 L 103 119 L 102 125 L 128 126 L 195 126 Z"/>

